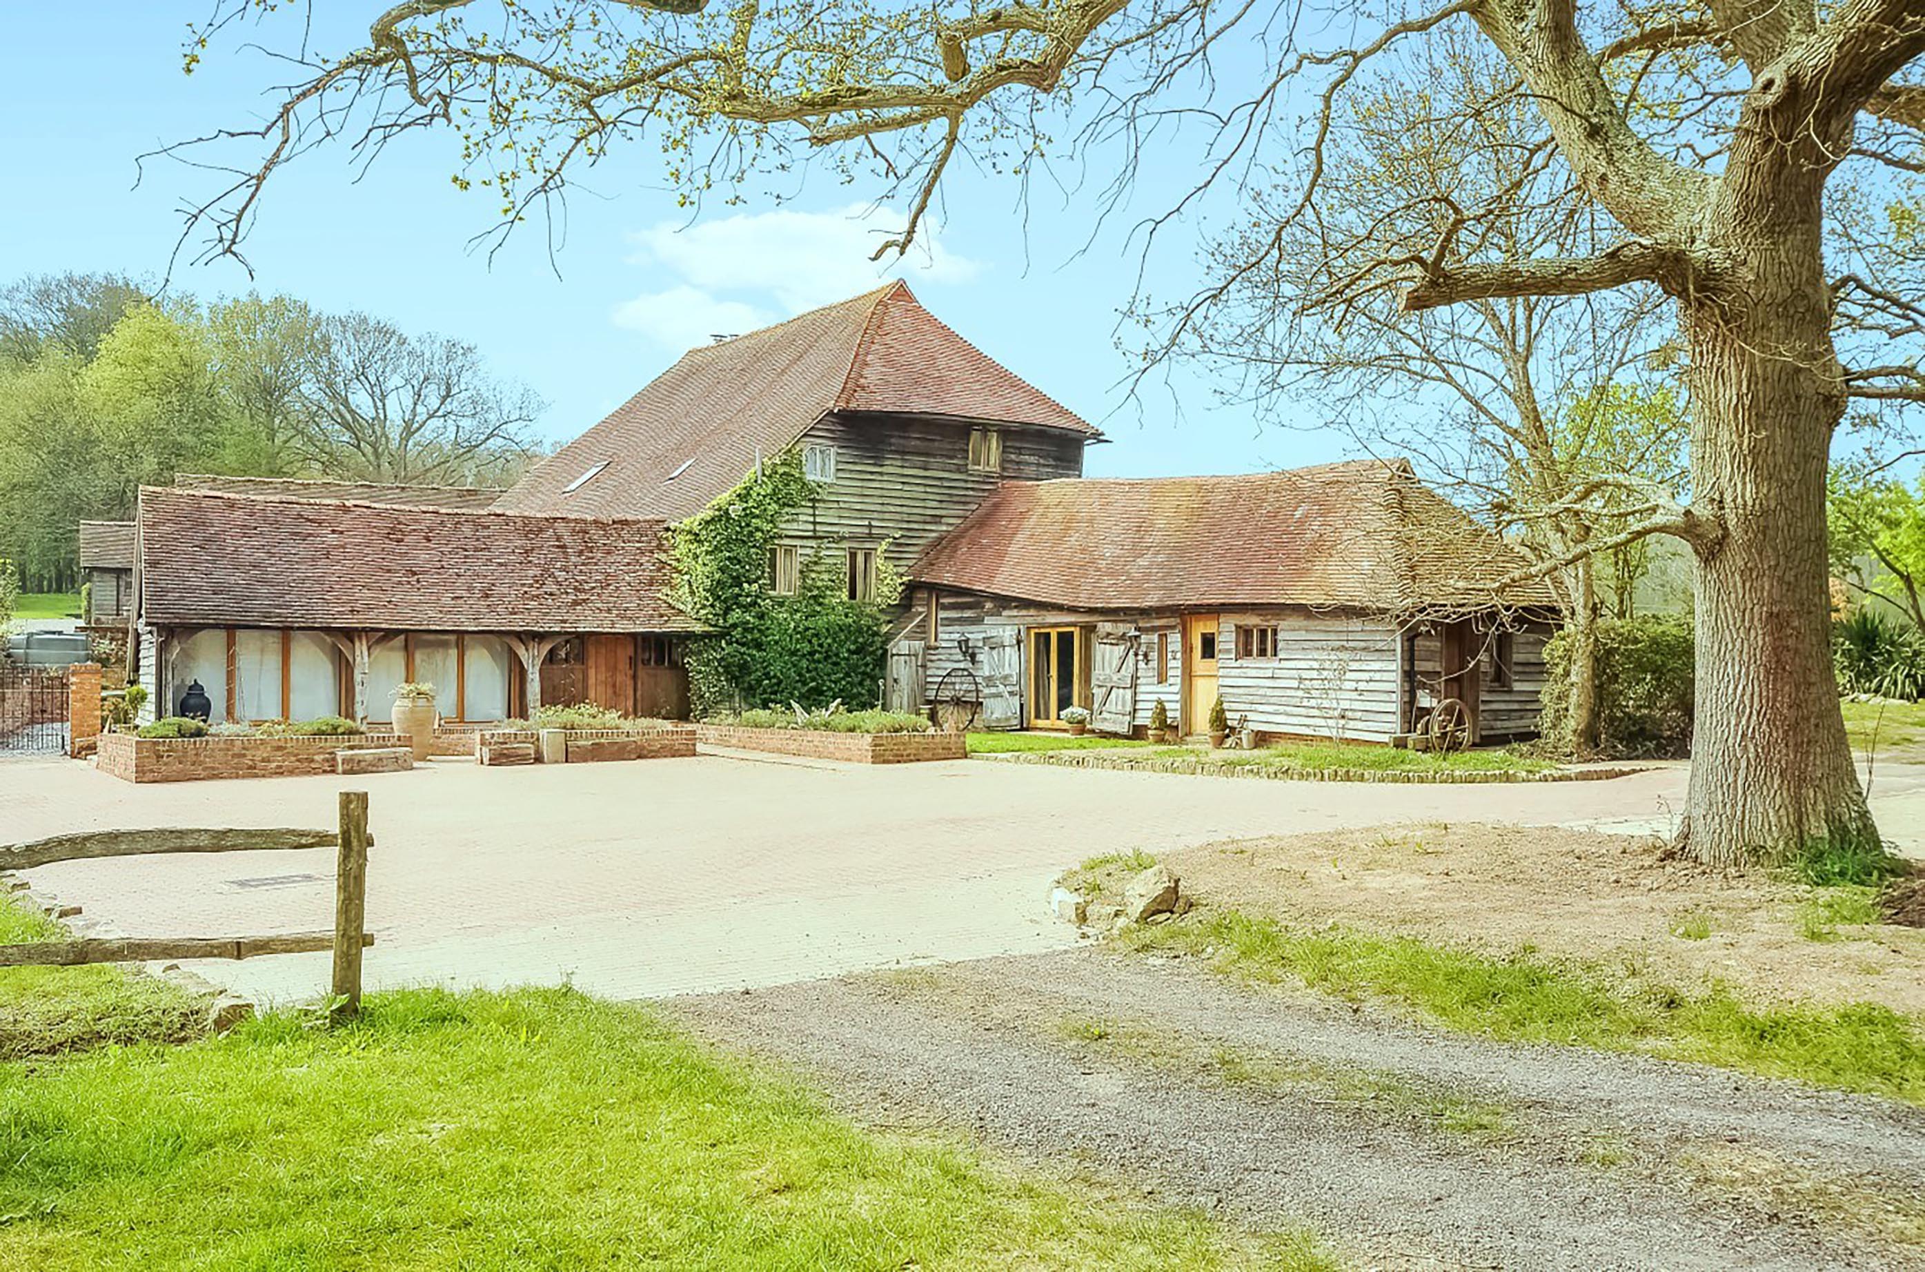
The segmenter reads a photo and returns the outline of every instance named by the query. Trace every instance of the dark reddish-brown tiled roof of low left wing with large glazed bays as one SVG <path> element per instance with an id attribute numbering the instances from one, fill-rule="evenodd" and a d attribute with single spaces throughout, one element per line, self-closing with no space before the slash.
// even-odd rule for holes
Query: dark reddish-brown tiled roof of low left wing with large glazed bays
<path id="1" fill-rule="evenodd" d="M 141 614 L 158 625 L 695 631 L 662 522 L 141 491 Z"/>

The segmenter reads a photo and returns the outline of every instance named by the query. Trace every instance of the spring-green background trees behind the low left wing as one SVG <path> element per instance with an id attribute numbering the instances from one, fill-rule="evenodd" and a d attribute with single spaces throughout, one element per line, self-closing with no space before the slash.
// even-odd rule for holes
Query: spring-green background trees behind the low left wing
<path id="1" fill-rule="evenodd" d="M 368 314 L 27 277 L 0 291 L 0 558 L 69 591 L 79 522 L 185 471 L 506 485 L 541 408 L 472 344 Z"/>

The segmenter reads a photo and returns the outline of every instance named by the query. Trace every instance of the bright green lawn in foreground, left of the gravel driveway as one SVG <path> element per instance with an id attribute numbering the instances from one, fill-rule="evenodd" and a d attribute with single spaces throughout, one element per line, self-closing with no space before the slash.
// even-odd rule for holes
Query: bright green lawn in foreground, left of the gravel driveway
<path id="1" fill-rule="evenodd" d="M 1334 1266 L 1301 1234 L 864 1132 L 568 989 L 0 1068 L 0 1266 L 38 1272 Z"/>

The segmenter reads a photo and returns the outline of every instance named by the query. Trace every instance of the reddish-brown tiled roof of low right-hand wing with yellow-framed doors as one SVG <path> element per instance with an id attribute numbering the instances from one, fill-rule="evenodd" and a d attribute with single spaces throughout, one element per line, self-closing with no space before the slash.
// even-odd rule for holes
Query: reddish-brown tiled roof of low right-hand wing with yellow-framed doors
<path id="1" fill-rule="evenodd" d="M 1011 481 L 914 566 L 918 583 L 1090 610 L 1492 604 L 1523 558 L 1405 462 L 1245 477 Z M 1553 604 L 1542 583 L 1503 604 Z"/>

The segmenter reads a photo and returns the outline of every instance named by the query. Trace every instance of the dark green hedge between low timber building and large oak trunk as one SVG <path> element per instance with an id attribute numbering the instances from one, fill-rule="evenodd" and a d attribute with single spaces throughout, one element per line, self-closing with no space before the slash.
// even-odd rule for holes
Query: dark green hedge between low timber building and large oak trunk
<path id="1" fill-rule="evenodd" d="M 1607 756 L 1690 754 L 1696 647 L 1684 618 L 1598 620 L 1598 750 Z M 1544 737 L 1567 737 L 1571 641 L 1544 647 Z"/>

